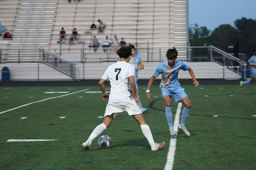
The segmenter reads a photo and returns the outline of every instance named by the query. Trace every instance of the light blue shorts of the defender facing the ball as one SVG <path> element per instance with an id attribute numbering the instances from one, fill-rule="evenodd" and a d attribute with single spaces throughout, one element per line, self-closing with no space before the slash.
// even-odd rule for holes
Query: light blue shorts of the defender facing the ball
<path id="1" fill-rule="evenodd" d="M 182 90 L 181 86 L 171 87 L 171 88 L 162 87 L 161 94 L 163 98 L 164 96 L 167 96 L 167 95 L 169 95 L 172 98 L 171 95 L 173 95 L 174 101 L 176 103 L 180 102 L 182 98 L 187 97 L 187 94 L 185 93 L 184 90 Z"/>

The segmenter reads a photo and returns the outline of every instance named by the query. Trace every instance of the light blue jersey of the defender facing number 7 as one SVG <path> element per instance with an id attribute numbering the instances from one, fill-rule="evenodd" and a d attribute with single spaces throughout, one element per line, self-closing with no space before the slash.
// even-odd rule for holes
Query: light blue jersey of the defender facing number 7
<path id="1" fill-rule="evenodd" d="M 162 80 L 160 83 L 160 88 L 177 87 L 180 86 L 180 83 L 178 83 L 178 72 L 180 71 L 180 69 L 182 69 L 183 71 L 187 71 L 188 68 L 189 67 L 185 63 L 178 60 L 175 60 L 175 64 L 172 68 L 168 65 L 168 61 L 164 61 L 160 63 L 159 66 L 156 68 L 153 76 L 158 77 L 161 73 Z"/>

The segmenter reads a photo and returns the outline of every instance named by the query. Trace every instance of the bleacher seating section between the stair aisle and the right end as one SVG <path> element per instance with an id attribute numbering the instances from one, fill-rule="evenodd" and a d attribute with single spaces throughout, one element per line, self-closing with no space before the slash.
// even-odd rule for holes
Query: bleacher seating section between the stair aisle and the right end
<path id="1" fill-rule="evenodd" d="M 101 19 L 107 24 L 103 34 L 98 34 L 97 29 L 90 29 L 92 23 L 98 25 Z M 82 44 L 58 44 L 60 29 L 64 27 L 67 39 L 70 38 L 73 28 L 78 30 L 79 42 Z M 91 32 L 91 34 L 85 34 Z M 118 41 L 123 37 L 128 43 L 138 47 L 150 47 L 153 58 L 159 60 L 159 48 L 175 46 L 180 53 L 180 58 L 186 60 L 186 0 L 97 0 L 67 3 L 60 0 L 55 18 L 50 50 L 60 54 L 69 61 L 98 61 L 106 58 L 108 54 L 99 49 L 95 54 L 88 46 L 92 37 L 96 35 L 101 43 L 106 36 L 110 39 L 117 34 Z M 174 40 L 175 39 L 175 40 Z M 84 47 L 83 55 L 81 48 Z M 154 48 L 154 49 L 153 49 Z M 147 49 L 141 50 L 143 56 Z M 162 56 L 165 56 L 162 50 Z M 109 51 L 109 53 L 114 53 Z M 86 58 L 84 58 L 84 56 Z"/>

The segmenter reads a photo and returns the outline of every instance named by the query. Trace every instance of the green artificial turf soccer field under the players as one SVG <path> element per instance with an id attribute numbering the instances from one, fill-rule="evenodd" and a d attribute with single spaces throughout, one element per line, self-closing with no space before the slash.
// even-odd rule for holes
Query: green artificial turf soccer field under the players
<path id="1" fill-rule="evenodd" d="M 253 116 L 256 115 L 256 86 L 182 87 L 192 103 L 186 123 L 191 137 L 178 132 L 173 170 L 256 169 L 256 117 Z M 97 86 L 0 87 L 0 113 L 66 95 L 0 114 L 0 170 L 164 169 L 170 143 L 165 104 L 159 86 L 150 90 L 154 100 L 151 104 L 146 101 L 145 88 L 139 86 L 140 99 L 144 107 L 151 108 L 143 115 L 155 141 L 166 142 L 159 151 L 150 150 L 140 126 L 127 113 L 119 114 L 101 134 L 112 138 L 111 148 L 101 149 L 97 145 L 98 136 L 89 152 L 82 151 L 81 144 L 102 123 L 103 118 L 97 117 L 103 116 L 107 101 L 101 99 L 100 93 L 44 92 L 100 91 Z M 174 121 L 177 104 L 172 102 Z M 57 141 L 7 142 L 9 139 Z"/>

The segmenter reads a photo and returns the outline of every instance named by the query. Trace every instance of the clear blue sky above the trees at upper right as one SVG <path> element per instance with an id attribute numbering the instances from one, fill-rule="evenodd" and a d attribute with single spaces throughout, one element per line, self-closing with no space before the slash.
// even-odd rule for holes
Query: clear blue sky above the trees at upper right
<path id="1" fill-rule="evenodd" d="M 242 17 L 256 19 L 256 0 L 188 0 L 189 26 L 194 23 L 213 31 Z"/>

